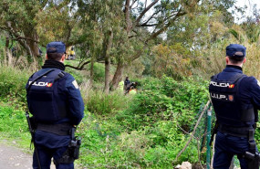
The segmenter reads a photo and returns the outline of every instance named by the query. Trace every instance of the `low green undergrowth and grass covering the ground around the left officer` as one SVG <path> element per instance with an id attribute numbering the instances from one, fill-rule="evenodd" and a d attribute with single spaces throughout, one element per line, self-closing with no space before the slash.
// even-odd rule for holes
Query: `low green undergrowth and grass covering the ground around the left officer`
<path id="1" fill-rule="evenodd" d="M 0 69 L 3 69 L 0 73 L 3 79 L 11 76 L 9 72 L 13 73 L 13 78 L 5 80 L 5 86 L 0 88 L 1 97 L 7 98 L 1 103 L 1 134 L 28 148 L 24 85 L 30 73 L 14 68 L 4 71 L 3 66 Z M 83 140 L 79 164 L 91 168 L 172 166 L 189 138 L 181 128 L 192 131 L 200 106 L 207 100 L 207 82 L 192 79 L 178 82 L 168 77 L 139 82 L 142 89 L 133 97 L 123 95 L 120 90 L 109 95 L 99 90 L 90 90 L 87 96 L 82 93 L 87 109 L 78 127 L 78 135 Z M 12 92 L 5 91 L 6 86 L 12 86 Z M 197 154 L 193 144 L 179 160 L 195 163 Z"/>

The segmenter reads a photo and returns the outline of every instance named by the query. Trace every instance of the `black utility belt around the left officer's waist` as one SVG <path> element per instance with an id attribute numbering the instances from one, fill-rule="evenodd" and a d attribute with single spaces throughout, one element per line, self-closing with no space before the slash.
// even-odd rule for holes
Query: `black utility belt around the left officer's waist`
<path id="1" fill-rule="evenodd" d="M 57 135 L 69 135 L 73 125 L 69 123 L 61 124 L 46 124 L 46 123 L 37 123 L 36 130 L 51 132 Z"/>

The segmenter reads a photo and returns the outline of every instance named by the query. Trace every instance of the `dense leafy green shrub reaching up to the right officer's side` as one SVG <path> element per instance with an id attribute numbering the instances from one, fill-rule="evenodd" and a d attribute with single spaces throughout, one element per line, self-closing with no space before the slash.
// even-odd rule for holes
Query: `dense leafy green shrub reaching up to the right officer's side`
<path id="1" fill-rule="evenodd" d="M 117 116 L 130 130 L 152 125 L 156 121 L 178 118 L 180 125 L 189 132 L 195 115 L 207 101 L 207 82 L 186 79 L 182 82 L 172 78 L 145 79 L 140 82 L 142 90 L 130 104 L 129 109 Z"/>

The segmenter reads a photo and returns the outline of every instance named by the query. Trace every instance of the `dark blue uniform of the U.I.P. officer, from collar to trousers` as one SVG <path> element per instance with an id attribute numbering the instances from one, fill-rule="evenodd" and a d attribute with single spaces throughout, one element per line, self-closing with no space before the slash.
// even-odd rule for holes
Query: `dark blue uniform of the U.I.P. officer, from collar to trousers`
<path id="1" fill-rule="evenodd" d="M 223 127 L 223 129 L 218 130 L 215 139 L 214 169 L 228 169 L 234 154 L 237 154 L 242 169 L 248 169 L 247 161 L 243 157 L 245 152 L 250 151 L 247 137 L 248 131 L 243 130 L 254 129 L 255 121 L 258 120 L 260 86 L 254 77 L 242 75 L 241 67 L 227 65 L 223 72 L 213 78 L 223 83 L 213 82 L 213 79 L 211 81 L 210 93 L 213 107 L 217 120 Z M 231 79 L 235 80 L 234 77 L 238 78 L 233 83 L 224 82 Z M 228 84 L 227 88 L 229 90 L 237 87 L 236 91 L 228 93 L 224 90 L 225 84 Z M 227 94 L 214 93 L 213 87 L 219 90 L 219 93 L 224 92 Z"/>

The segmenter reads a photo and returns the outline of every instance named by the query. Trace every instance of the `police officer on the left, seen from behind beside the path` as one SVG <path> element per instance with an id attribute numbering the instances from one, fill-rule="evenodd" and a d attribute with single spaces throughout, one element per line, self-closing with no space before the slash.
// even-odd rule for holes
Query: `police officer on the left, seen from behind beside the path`
<path id="1" fill-rule="evenodd" d="M 28 108 L 36 121 L 34 169 L 49 168 L 52 157 L 57 169 L 74 168 L 68 145 L 73 127 L 84 116 L 84 104 L 77 81 L 64 71 L 65 53 L 63 42 L 47 44 L 44 66 L 26 84 Z"/>

